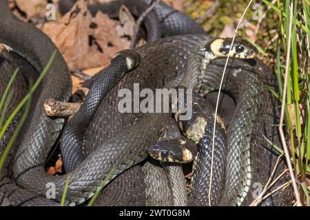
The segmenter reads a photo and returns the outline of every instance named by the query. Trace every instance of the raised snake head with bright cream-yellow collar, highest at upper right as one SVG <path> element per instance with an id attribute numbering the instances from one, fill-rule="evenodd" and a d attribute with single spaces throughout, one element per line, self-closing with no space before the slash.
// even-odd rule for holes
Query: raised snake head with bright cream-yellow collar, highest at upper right
<path id="1" fill-rule="evenodd" d="M 231 38 L 215 39 L 210 45 L 211 51 L 216 57 L 229 56 L 234 58 L 249 59 L 257 56 L 258 50 L 256 47 L 243 39 L 235 39 L 230 50 L 232 41 L 233 39 Z"/>

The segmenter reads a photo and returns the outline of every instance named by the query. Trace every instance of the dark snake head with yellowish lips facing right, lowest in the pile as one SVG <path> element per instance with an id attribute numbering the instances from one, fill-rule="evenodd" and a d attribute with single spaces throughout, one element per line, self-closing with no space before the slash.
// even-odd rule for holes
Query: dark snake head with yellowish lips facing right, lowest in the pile
<path id="1" fill-rule="evenodd" d="M 147 147 L 147 153 L 162 162 L 188 163 L 194 159 L 194 155 L 187 148 L 183 140 L 170 139 L 156 142 Z"/>

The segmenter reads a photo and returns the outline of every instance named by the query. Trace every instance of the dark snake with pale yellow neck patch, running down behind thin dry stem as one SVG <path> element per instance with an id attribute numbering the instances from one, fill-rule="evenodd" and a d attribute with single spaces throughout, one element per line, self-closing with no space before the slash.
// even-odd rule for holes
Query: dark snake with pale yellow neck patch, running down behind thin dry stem
<path id="1" fill-rule="evenodd" d="M 201 96 L 198 96 L 198 94 L 193 94 L 192 114 L 191 120 L 179 122 L 185 135 L 194 140 L 200 147 L 200 151 L 194 159 L 192 169 L 189 206 L 208 206 L 214 113 L 210 104 L 203 100 Z M 199 128 L 200 132 L 197 131 L 197 128 Z M 223 192 L 225 169 L 218 169 L 218 167 L 225 167 L 225 160 L 227 158 L 225 141 L 225 129 L 223 129 L 221 124 L 217 123 L 214 143 L 216 149 L 214 151 L 214 176 L 210 197 L 211 206 L 218 205 Z"/>

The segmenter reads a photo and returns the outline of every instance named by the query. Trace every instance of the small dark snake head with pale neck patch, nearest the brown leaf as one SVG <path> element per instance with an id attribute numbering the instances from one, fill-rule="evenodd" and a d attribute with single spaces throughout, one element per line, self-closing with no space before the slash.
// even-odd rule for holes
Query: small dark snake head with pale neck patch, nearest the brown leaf
<path id="1" fill-rule="evenodd" d="M 122 50 L 113 56 L 111 63 L 125 63 L 127 71 L 131 71 L 140 64 L 140 54 L 134 50 Z"/>

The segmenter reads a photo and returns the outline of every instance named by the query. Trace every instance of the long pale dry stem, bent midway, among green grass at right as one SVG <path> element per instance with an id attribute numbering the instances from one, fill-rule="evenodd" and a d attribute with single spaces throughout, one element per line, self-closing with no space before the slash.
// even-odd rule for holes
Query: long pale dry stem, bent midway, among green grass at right
<path id="1" fill-rule="evenodd" d="M 285 100 L 287 96 L 287 78 L 289 75 L 289 54 L 291 54 L 291 29 L 292 29 L 292 22 L 293 22 L 293 2 L 291 1 L 291 8 L 290 8 L 290 16 L 289 16 L 289 41 L 287 45 L 287 65 L 285 67 L 285 82 L 283 85 L 283 96 L 282 96 L 282 106 L 281 106 L 281 114 L 280 114 L 280 123 L 279 123 L 279 132 L 281 137 L 281 142 L 283 145 L 283 149 L 285 151 L 285 158 L 287 160 L 287 166 L 289 168 L 289 175 L 291 176 L 291 181 L 293 185 L 294 194 L 297 201 L 297 206 L 302 206 L 300 201 L 300 194 L 298 191 L 298 186 L 296 184 L 295 175 L 293 173 L 293 168 L 291 166 L 291 159 L 289 157 L 289 150 L 287 149 L 287 142 L 285 140 L 285 135 L 283 132 L 283 120 L 284 120 L 284 113 L 285 113 Z"/>

